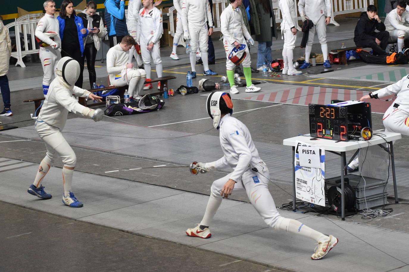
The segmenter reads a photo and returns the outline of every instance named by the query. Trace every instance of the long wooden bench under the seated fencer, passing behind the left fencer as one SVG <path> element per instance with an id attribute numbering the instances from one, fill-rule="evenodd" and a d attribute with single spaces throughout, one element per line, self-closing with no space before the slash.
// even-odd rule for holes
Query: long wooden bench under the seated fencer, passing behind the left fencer
<path id="1" fill-rule="evenodd" d="M 154 83 L 154 82 L 160 82 L 160 86 L 164 86 L 164 84 L 166 84 L 166 86 L 168 85 L 168 80 L 173 80 L 176 77 L 174 77 L 173 75 L 167 75 L 165 77 L 159 77 L 159 78 L 155 78 L 150 82 L 146 82 L 146 83 Z M 106 91 L 106 90 L 112 90 L 112 89 L 119 89 L 119 97 L 121 97 L 121 102 L 124 102 L 124 93 L 125 90 L 128 88 L 128 85 L 126 86 L 122 86 L 122 87 L 116 87 L 116 86 L 109 86 L 109 87 L 104 87 L 104 88 L 99 88 L 99 89 L 90 89 L 88 91 L 90 91 L 91 93 L 95 93 L 95 92 L 99 92 L 99 91 Z M 155 88 L 155 87 L 154 87 Z M 151 95 L 162 95 L 163 94 L 163 90 L 158 90 L 155 93 L 150 93 Z M 23 100 L 23 102 L 34 102 L 34 110 L 38 112 L 41 109 L 41 102 L 45 100 L 45 97 L 40 97 L 40 98 L 34 98 L 34 99 L 29 99 L 29 100 Z M 78 103 L 83 105 L 83 106 L 88 106 L 88 107 L 94 107 L 94 106 L 101 106 L 101 105 L 105 105 L 105 102 L 93 102 L 92 104 L 87 105 L 87 102 L 85 100 L 85 97 L 78 97 Z M 37 114 L 38 114 L 37 112 Z"/>

